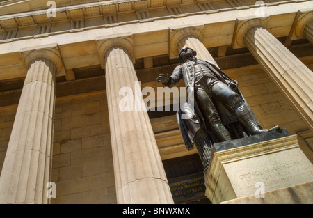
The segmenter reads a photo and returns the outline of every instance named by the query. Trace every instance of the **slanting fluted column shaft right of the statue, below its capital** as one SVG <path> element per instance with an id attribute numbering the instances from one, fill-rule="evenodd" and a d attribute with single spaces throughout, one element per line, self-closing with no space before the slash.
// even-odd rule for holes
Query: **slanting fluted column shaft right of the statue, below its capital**
<path id="1" fill-rule="evenodd" d="M 246 31 L 243 42 L 313 130 L 313 73 L 262 26 Z"/>

